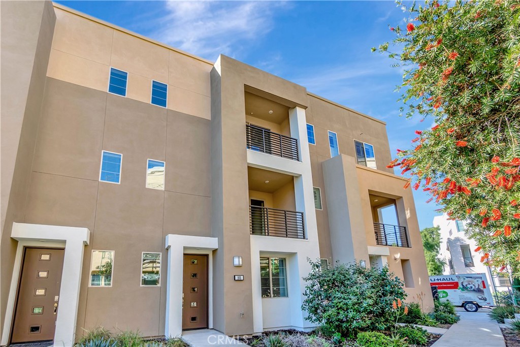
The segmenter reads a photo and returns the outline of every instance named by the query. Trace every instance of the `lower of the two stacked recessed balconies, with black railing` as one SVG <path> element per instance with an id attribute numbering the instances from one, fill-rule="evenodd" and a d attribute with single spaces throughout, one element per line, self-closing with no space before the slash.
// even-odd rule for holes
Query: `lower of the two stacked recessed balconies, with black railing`
<path id="1" fill-rule="evenodd" d="M 305 238 L 304 213 L 296 211 L 294 177 L 248 167 L 251 235 Z"/>

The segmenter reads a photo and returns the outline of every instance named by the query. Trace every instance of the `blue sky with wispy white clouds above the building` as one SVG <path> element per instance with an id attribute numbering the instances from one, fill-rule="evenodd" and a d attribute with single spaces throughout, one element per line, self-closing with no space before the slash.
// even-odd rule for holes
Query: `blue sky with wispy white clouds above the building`
<path id="1" fill-rule="evenodd" d="M 432 125 L 399 117 L 401 71 L 370 52 L 392 40 L 388 24 L 404 23 L 393 1 L 57 2 L 212 61 L 228 55 L 381 119 L 393 154 Z M 414 191 L 421 229 L 438 208 L 428 197 Z"/>

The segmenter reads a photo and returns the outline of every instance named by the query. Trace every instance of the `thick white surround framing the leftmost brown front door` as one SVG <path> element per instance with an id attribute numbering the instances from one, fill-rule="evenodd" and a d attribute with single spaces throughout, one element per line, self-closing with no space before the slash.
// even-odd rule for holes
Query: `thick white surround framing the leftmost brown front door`
<path id="1" fill-rule="evenodd" d="M 80 300 L 80 281 L 83 267 L 83 251 L 88 245 L 90 230 L 87 228 L 13 223 L 11 238 L 18 241 L 15 264 L 12 269 L 11 286 L 7 300 L 6 315 L 2 333 L 2 345 L 7 345 L 14 319 L 16 294 L 20 278 L 23 251 L 25 247 L 64 248 L 63 271 L 60 285 L 59 304 L 54 346 L 72 346 L 76 330 L 77 306 Z"/>

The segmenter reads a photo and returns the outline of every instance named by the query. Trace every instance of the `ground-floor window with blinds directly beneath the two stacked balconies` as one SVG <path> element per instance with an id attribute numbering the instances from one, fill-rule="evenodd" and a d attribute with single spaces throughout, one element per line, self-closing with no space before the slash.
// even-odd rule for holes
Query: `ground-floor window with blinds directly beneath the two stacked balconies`
<path id="1" fill-rule="evenodd" d="M 260 258 L 262 298 L 288 296 L 285 258 Z"/>

